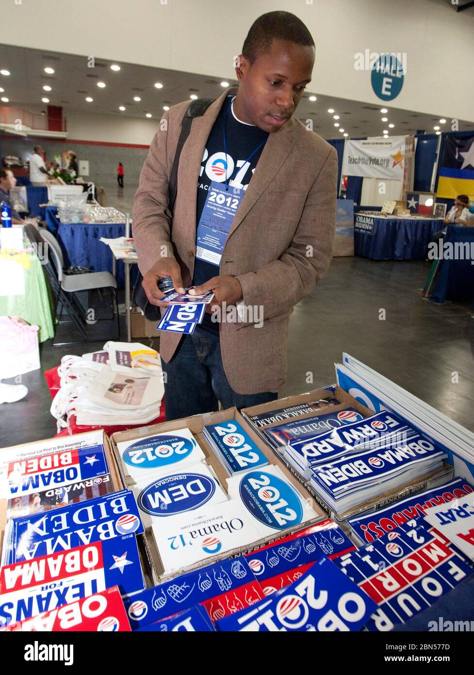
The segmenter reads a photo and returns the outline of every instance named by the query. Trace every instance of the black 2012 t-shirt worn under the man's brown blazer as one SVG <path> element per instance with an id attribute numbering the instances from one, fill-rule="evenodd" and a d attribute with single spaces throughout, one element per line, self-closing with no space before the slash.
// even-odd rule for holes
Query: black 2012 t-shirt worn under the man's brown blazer
<path id="1" fill-rule="evenodd" d="M 206 148 L 202 157 L 200 177 L 198 178 L 196 225 L 199 223 L 202 209 L 206 203 L 206 197 L 211 182 L 215 180 L 224 183 L 226 169 L 227 180 L 231 188 L 240 188 L 241 190 L 247 189 L 251 175 L 254 173 L 257 162 L 264 149 L 264 145 L 262 145 L 255 155 L 252 155 L 248 162 L 245 162 L 245 160 L 268 138 L 268 132 L 262 131 L 262 129 L 259 129 L 253 124 L 241 122 L 235 117 L 232 109 L 229 111 L 226 119 L 226 113 L 232 100 L 233 96 L 229 96 L 224 101 L 223 107 L 220 109 L 220 113 L 214 122 L 214 126 L 212 127 L 206 142 Z M 224 152 L 224 123 L 227 157 L 229 158 L 228 167 Z M 231 175 L 231 180 L 229 180 L 229 175 Z M 196 258 L 193 284 L 194 286 L 204 284 L 211 277 L 218 276 L 218 273 L 219 268 L 216 265 L 211 265 L 211 263 L 206 263 L 206 261 Z M 212 333 L 218 333 L 219 324 L 213 323 L 210 320 L 210 316 L 211 315 L 207 313 L 204 315 L 202 327 Z"/>

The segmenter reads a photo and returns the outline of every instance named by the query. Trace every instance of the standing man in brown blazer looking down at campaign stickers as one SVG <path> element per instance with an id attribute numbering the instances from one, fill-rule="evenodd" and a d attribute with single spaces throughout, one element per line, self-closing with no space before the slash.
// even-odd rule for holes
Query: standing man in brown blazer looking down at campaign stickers
<path id="1" fill-rule="evenodd" d="M 314 42 L 296 16 L 254 22 L 239 87 L 192 121 L 173 217 L 169 176 L 189 101 L 165 113 L 152 141 L 133 221 L 148 300 L 164 313 L 157 282 L 166 277 L 179 292 L 214 292 L 194 333 L 160 333 L 167 419 L 274 400 L 285 383 L 289 315 L 326 274 L 334 240 L 336 151 L 293 117 L 313 65 Z M 206 243 L 206 217 L 226 190 L 239 201 L 219 248 Z"/>

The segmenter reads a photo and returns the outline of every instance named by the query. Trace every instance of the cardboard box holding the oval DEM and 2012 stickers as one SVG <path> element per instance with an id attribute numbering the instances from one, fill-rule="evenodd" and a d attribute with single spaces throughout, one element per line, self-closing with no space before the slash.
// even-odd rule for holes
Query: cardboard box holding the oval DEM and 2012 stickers
<path id="1" fill-rule="evenodd" d="M 227 479 L 229 478 L 229 473 L 227 473 L 223 465 L 220 464 L 218 458 L 216 457 L 216 455 L 206 442 L 206 439 L 204 439 L 204 436 L 202 435 L 202 429 L 205 425 L 208 424 L 225 423 L 233 419 L 235 419 L 240 425 L 242 425 L 243 429 L 245 429 L 245 431 L 248 433 L 248 435 L 251 437 L 254 443 L 258 445 L 260 450 L 262 450 L 262 452 L 268 459 L 269 464 L 274 464 L 275 466 L 278 466 L 285 474 L 285 477 L 293 484 L 293 486 L 303 496 L 303 499 L 306 499 L 309 502 L 310 506 L 312 506 L 312 508 L 316 512 L 317 517 L 314 520 L 308 521 L 305 524 L 305 526 L 309 526 L 309 524 L 319 522 L 323 518 L 326 518 L 326 514 L 319 508 L 317 504 L 314 503 L 314 499 L 312 499 L 312 496 L 309 494 L 309 491 L 307 491 L 305 487 L 303 487 L 301 482 L 295 478 L 293 473 L 287 469 L 285 464 L 283 464 L 283 462 L 281 462 L 280 459 L 268 449 L 268 446 L 262 442 L 262 439 L 260 439 L 258 433 L 256 433 L 256 431 L 254 431 L 254 429 L 247 423 L 247 421 L 245 421 L 245 419 L 243 418 L 243 416 L 241 416 L 237 408 L 228 408 L 227 410 L 219 410 L 218 412 L 208 412 L 206 414 L 198 414 L 191 417 L 185 417 L 179 420 L 173 420 L 171 422 L 164 422 L 162 424 L 152 425 L 150 427 L 141 427 L 140 429 L 130 429 L 129 431 L 119 431 L 113 433 L 111 435 L 111 443 L 113 452 L 115 452 L 115 459 L 117 460 L 117 465 L 119 466 L 121 479 L 123 480 L 123 487 L 131 487 L 132 485 L 134 485 L 134 483 L 131 481 L 131 479 L 129 479 L 129 477 L 125 475 L 125 472 L 123 471 L 123 467 L 121 466 L 121 458 L 117 450 L 117 443 L 119 443 L 120 441 L 136 440 L 144 436 L 152 435 L 153 433 L 164 433 L 165 431 L 174 431 L 175 429 L 182 429 L 183 427 L 187 427 L 193 433 L 194 437 L 196 438 L 196 441 L 198 441 L 198 444 L 200 445 L 200 448 L 204 452 L 206 456 L 206 463 L 209 466 L 212 466 L 212 469 L 214 470 L 214 473 L 216 474 L 216 477 L 218 478 L 220 485 L 223 487 L 224 491 L 227 491 Z M 262 545 L 264 545 L 265 543 L 270 543 L 275 539 L 279 539 L 280 537 L 288 535 L 291 532 L 297 531 L 299 529 L 301 529 L 301 524 L 295 525 L 291 528 L 275 533 L 270 537 L 259 539 L 258 541 L 254 542 L 254 544 L 251 545 L 251 547 L 247 547 L 245 549 L 242 548 L 234 549 L 233 551 L 226 551 L 225 553 L 221 553 L 220 555 L 214 556 L 212 558 L 206 558 L 206 560 L 202 560 L 198 564 L 192 566 L 192 568 L 186 568 L 186 570 L 182 571 L 197 569 L 202 566 L 210 565 L 213 562 L 216 562 L 217 560 L 221 560 L 223 558 L 239 556 L 241 555 L 241 553 L 248 553 L 256 548 L 262 547 Z M 158 556 L 158 551 L 156 550 L 156 546 L 154 544 L 154 539 L 152 537 L 151 530 L 146 531 L 145 535 L 142 536 L 144 537 L 144 547 L 147 553 L 148 563 L 150 564 L 151 576 L 155 584 L 158 583 L 158 579 L 160 581 L 164 581 L 167 580 L 168 578 L 172 578 L 173 576 L 177 576 L 178 574 L 182 573 L 182 571 L 180 570 L 179 572 L 173 572 L 173 574 L 168 575 L 162 574 L 163 570 L 161 567 L 160 558 Z"/>

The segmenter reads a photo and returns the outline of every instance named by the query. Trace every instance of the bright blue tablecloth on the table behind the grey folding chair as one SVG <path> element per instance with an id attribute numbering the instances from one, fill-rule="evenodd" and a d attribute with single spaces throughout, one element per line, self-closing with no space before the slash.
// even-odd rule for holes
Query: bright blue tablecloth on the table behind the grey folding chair
<path id="1" fill-rule="evenodd" d="M 101 237 L 116 239 L 125 236 L 125 223 L 59 223 L 56 238 L 61 246 L 64 264 L 73 267 L 92 267 L 94 272 L 112 271 L 112 252 Z M 131 267 L 131 283 L 137 275 L 136 265 Z M 117 261 L 115 268 L 117 287 L 125 286 L 125 267 Z"/>

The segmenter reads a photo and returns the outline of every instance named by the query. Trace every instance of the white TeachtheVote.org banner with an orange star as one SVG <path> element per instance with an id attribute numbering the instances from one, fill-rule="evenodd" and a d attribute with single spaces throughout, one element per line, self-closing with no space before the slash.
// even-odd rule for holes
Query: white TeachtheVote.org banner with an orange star
<path id="1" fill-rule="evenodd" d="M 405 136 L 346 140 L 343 175 L 403 180 Z"/>

